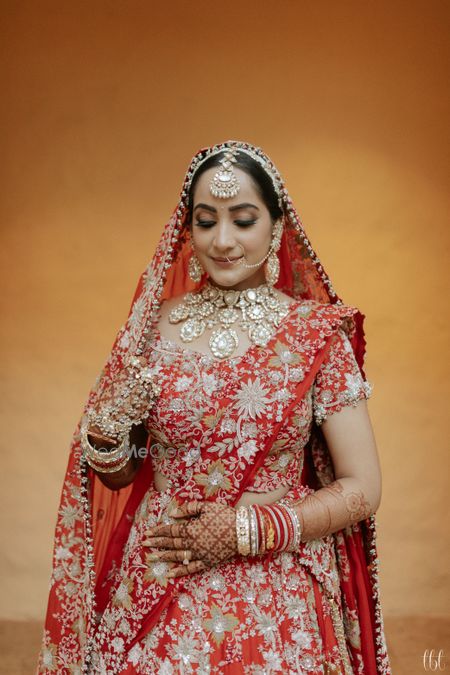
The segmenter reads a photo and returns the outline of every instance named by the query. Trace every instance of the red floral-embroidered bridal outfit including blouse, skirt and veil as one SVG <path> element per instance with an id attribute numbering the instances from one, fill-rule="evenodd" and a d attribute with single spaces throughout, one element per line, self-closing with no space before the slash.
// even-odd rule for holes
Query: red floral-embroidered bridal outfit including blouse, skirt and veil
<path id="1" fill-rule="evenodd" d="M 298 501 L 332 482 L 321 423 L 370 395 L 364 316 L 333 291 L 284 186 L 277 287 L 293 303 L 267 347 L 218 361 L 159 333 L 161 303 L 204 281 L 196 287 L 187 275 L 186 186 L 201 159 L 230 143 L 276 171 L 262 151 L 237 142 L 191 162 L 85 409 L 108 399 L 130 355 L 144 357 L 162 388 L 145 420 L 150 452 L 133 484 L 113 492 L 87 466 L 75 432 L 40 673 L 391 672 L 375 516 L 294 553 L 235 558 L 178 579 L 142 546 L 145 529 L 173 522 L 171 505 L 234 505 L 244 491 L 280 486 Z M 155 490 L 155 470 L 170 479 L 164 492 Z"/>

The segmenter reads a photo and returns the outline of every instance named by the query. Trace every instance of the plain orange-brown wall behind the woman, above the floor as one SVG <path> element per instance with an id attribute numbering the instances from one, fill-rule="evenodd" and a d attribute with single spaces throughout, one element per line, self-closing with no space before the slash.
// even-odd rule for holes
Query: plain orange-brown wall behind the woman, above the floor
<path id="1" fill-rule="evenodd" d="M 191 156 L 228 138 L 367 316 L 385 614 L 448 614 L 449 7 L 2 2 L 3 618 L 43 616 L 82 404 Z"/>

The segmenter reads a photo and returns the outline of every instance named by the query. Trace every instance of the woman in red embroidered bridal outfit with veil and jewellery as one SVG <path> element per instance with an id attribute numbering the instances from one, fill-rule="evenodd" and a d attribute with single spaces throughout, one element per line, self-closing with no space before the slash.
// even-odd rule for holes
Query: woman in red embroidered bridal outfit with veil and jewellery
<path id="1" fill-rule="evenodd" d="M 259 149 L 199 151 L 77 427 L 40 673 L 390 673 L 344 305 Z"/>

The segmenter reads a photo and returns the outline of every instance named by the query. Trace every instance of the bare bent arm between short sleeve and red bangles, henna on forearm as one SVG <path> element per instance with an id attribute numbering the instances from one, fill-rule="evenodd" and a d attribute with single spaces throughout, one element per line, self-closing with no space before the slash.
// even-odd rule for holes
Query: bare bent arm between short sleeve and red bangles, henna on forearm
<path id="1" fill-rule="evenodd" d="M 366 401 L 330 415 L 322 429 L 336 480 L 295 504 L 302 541 L 364 520 L 375 513 L 381 499 L 380 465 Z"/>

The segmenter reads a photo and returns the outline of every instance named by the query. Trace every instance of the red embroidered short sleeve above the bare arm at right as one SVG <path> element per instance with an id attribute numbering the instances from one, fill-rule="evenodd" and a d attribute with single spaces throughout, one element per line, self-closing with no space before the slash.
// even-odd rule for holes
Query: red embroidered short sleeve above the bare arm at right
<path id="1" fill-rule="evenodd" d="M 316 424 L 371 394 L 372 385 L 364 380 L 350 340 L 340 328 L 314 380 L 312 404 Z"/>

